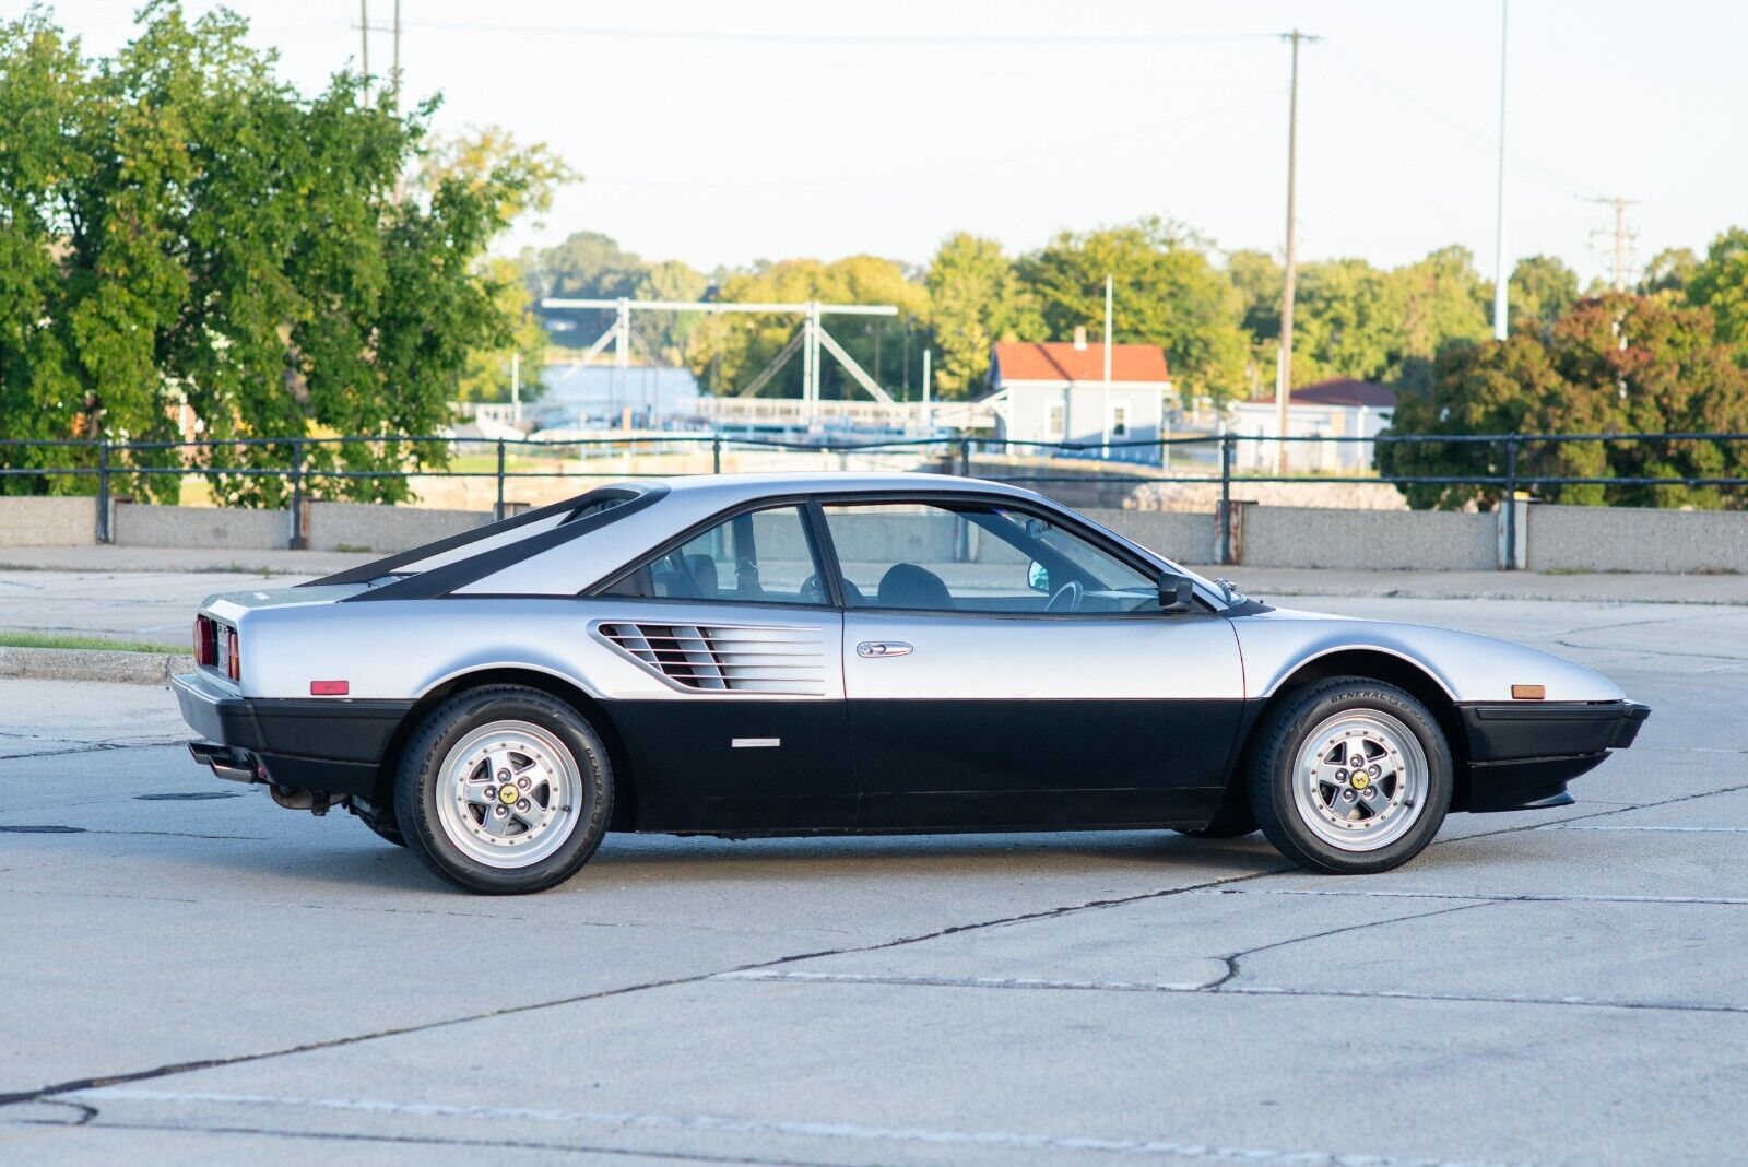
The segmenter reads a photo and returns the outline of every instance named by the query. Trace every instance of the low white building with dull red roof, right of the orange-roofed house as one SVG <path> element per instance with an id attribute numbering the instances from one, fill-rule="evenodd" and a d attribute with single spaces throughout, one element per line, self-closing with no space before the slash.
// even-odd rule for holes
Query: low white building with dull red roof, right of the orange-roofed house
<path id="1" fill-rule="evenodd" d="M 1287 404 L 1288 437 L 1376 437 L 1390 425 L 1397 395 L 1370 381 L 1320 381 L 1294 390 Z M 1234 445 L 1234 470 L 1274 470 L 1280 414 L 1274 398 L 1232 405 L 1227 432 L 1241 440 Z M 1372 442 L 1292 442 L 1287 468 L 1292 473 L 1356 473 L 1372 466 Z"/>

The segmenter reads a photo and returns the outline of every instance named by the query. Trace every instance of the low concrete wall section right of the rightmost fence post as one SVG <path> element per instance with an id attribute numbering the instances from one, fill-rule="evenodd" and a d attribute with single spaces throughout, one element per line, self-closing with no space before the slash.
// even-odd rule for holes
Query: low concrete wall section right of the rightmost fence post
<path id="1" fill-rule="evenodd" d="M 1748 512 L 1530 507 L 1531 571 L 1748 573 Z"/>

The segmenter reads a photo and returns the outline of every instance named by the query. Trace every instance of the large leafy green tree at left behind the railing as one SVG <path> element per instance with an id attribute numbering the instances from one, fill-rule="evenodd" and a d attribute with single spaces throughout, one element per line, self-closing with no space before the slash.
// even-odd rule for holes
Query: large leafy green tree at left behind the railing
<path id="1" fill-rule="evenodd" d="M 500 283 L 477 260 L 563 166 L 502 133 L 434 152 L 434 101 L 400 115 L 348 73 L 304 96 L 246 31 L 224 9 L 191 21 L 152 3 L 135 40 L 89 59 L 38 9 L 0 24 L 0 423 L 9 437 L 170 444 L 192 416 L 220 440 L 383 435 L 311 451 L 313 470 L 440 459 L 392 435 L 437 430 L 468 351 L 509 341 Z M 414 182 L 397 201 L 404 171 Z M 218 447 L 208 465 L 288 456 Z M 184 458 L 164 447 L 135 463 Z M 177 477 L 135 489 L 171 498 Z M 404 493 L 399 479 L 332 489 Z M 283 486 L 225 473 L 215 493 L 276 503 Z"/>

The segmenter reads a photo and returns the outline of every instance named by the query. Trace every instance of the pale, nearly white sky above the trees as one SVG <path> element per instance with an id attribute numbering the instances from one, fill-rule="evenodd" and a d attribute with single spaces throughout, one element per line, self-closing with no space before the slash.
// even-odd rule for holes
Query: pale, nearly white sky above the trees
<path id="1" fill-rule="evenodd" d="M 131 0 L 56 17 L 107 52 Z M 191 2 L 191 10 L 208 3 Z M 355 63 L 353 0 L 231 7 L 288 77 Z M 386 21 L 392 0 L 371 0 Z M 507 250 L 603 231 L 699 267 L 872 252 L 951 231 L 1026 250 L 1157 213 L 1280 250 L 1288 51 L 1302 51 L 1301 255 L 1493 267 L 1498 0 L 1024 3 L 402 0 L 409 94 L 439 126 L 509 126 L 586 175 Z M 1585 278 L 1629 196 L 1640 260 L 1748 222 L 1748 5 L 1512 0 L 1509 255 Z M 372 66 L 388 61 L 386 35 Z"/>

